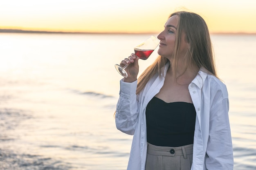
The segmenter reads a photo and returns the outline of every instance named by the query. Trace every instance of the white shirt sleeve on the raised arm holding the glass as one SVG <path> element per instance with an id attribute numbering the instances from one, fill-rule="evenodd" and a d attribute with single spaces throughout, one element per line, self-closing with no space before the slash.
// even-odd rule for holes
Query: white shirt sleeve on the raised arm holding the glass
<path id="1" fill-rule="evenodd" d="M 138 102 L 136 95 L 137 80 L 132 83 L 120 81 L 115 122 L 118 130 L 133 135 L 137 126 Z"/>

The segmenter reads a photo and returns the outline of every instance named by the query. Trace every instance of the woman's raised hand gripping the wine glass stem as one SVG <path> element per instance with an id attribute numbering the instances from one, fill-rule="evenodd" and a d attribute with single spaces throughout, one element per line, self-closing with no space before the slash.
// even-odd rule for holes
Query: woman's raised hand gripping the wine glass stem
<path id="1" fill-rule="evenodd" d="M 124 78 L 124 82 L 134 82 L 137 79 L 137 75 L 139 73 L 139 57 L 137 57 L 134 53 L 130 55 L 130 57 L 125 58 L 121 61 L 120 66 L 124 67 L 126 64 L 129 64 L 126 67 L 125 71 L 128 74 L 128 77 Z"/>

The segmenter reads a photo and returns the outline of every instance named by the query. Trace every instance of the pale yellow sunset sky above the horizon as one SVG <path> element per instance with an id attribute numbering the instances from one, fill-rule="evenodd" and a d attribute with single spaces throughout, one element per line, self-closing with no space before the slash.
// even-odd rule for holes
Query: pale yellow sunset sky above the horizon
<path id="1" fill-rule="evenodd" d="M 256 33 L 256 0 L 5 0 L 0 29 L 158 33 L 180 10 L 200 14 L 211 32 Z"/>

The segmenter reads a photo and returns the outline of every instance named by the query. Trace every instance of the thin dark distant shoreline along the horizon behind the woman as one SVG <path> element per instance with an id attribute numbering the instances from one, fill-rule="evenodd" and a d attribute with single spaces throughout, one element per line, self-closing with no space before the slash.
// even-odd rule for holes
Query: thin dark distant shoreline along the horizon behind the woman
<path id="1" fill-rule="evenodd" d="M 64 31 L 31 31 L 31 30 L 22 30 L 22 29 L 0 29 L 0 33 L 50 33 L 50 34 L 155 34 L 155 33 L 110 33 L 110 32 L 64 32 Z M 220 35 L 256 35 L 256 33 L 225 33 L 225 32 L 216 32 L 211 34 L 220 34 Z"/>

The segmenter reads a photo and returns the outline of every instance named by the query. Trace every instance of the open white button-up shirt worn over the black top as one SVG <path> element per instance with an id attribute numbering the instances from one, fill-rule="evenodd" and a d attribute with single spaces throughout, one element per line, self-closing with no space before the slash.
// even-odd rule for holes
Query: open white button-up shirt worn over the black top
<path id="1" fill-rule="evenodd" d="M 116 126 L 122 132 L 134 135 L 127 170 L 145 170 L 146 106 L 162 88 L 167 68 L 168 65 L 162 78 L 158 75 L 152 77 L 138 95 L 137 81 L 120 81 Z M 229 99 L 225 84 L 200 69 L 189 84 L 189 93 L 196 110 L 191 170 L 233 170 Z"/>

